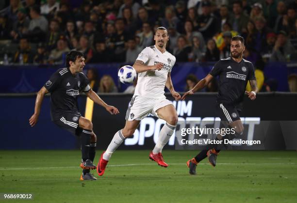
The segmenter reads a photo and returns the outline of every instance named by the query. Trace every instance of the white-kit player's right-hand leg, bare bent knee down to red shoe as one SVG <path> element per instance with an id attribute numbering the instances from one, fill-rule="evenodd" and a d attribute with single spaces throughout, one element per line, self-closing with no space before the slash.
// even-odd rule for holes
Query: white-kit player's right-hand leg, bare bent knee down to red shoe
<path id="1" fill-rule="evenodd" d="M 173 105 L 167 105 L 165 107 L 162 107 L 156 110 L 156 112 L 159 118 L 165 120 L 166 123 L 162 127 L 158 141 L 148 157 L 149 159 L 157 162 L 158 165 L 167 167 L 168 164 L 166 164 L 163 159 L 162 149 L 165 146 L 165 144 L 169 141 L 171 135 L 174 133 L 174 130 L 178 122 L 178 115 Z"/>

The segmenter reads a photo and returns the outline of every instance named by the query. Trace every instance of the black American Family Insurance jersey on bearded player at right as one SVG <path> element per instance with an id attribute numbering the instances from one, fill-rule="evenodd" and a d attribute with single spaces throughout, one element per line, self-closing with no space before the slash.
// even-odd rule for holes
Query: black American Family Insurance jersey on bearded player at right
<path id="1" fill-rule="evenodd" d="M 245 59 L 238 63 L 229 57 L 216 62 L 210 74 L 219 76 L 217 102 L 241 109 L 247 80 L 256 79 L 253 64 Z"/>

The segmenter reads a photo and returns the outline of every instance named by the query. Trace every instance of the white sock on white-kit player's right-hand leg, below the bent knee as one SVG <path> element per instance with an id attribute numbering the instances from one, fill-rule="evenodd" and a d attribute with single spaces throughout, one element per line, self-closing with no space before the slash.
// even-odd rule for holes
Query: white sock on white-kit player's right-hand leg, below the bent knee
<path id="1" fill-rule="evenodd" d="M 158 153 L 162 152 L 163 147 L 169 141 L 175 128 L 176 128 L 176 125 L 170 125 L 170 124 L 165 123 L 165 125 L 162 127 L 162 129 L 160 131 L 157 144 L 156 144 L 155 148 L 153 149 L 153 154 L 158 154 Z"/>

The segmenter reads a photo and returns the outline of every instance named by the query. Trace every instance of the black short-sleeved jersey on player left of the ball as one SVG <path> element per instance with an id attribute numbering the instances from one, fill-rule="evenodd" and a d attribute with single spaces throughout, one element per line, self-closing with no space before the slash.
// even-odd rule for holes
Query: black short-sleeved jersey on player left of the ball
<path id="1" fill-rule="evenodd" d="M 72 75 L 69 68 L 58 69 L 44 87 L 50 92 L 52 121 L 59 120 L 66 112 L 79 114 L 77 96 L 91 89 L 89 80 L 83 73 Z"/>

